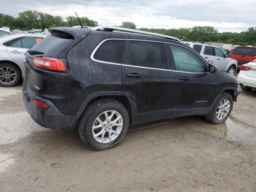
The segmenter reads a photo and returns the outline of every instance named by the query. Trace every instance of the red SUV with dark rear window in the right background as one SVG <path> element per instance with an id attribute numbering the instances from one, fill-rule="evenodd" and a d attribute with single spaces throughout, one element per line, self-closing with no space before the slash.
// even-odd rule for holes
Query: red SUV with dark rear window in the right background
<path id="1" fill-rule="evenodd" d="M 238 67 L 256 59 L 256 47 L 237 46 L 230 55 L 237 60 Z"/>

